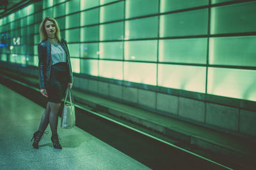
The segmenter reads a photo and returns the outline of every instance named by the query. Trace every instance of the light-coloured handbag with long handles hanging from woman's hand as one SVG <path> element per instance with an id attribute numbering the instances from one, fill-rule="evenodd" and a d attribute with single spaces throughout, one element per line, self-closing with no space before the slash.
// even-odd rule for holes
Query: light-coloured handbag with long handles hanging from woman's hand
<path id="1" fill-rule="evenodd" d="M 67 102 L 67 96 L 69 97 L 69 103 Z M 74 99 L 71 94 L 71 89 L 67 88 L 61 116 L 61 128 L 71 129 L 74 125 L 76 125 Z"/>

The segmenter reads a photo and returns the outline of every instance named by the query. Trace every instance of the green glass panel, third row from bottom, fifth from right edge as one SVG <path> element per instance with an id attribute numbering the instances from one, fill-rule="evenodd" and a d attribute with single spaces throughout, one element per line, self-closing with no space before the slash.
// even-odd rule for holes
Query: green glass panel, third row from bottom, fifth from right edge
<path id="1" fill-rule="evenodd" d="M 99 41 L 99 25 L 81 28 L 81 41 Z"/>

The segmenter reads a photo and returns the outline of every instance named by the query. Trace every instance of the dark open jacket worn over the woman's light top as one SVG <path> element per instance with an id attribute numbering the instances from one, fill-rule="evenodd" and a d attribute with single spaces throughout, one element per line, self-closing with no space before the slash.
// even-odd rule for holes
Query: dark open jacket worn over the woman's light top
<path id="1" fill-rule="evenodd" d="M 68 82 L 73 82 L 72 67 L 70 64 L 70 55 L 68 51 L 67 41 L 61 39 L 60 45 L 67 54 Z M 49 81 L 51 74 L 51 43 L 46 39 L 38 44 L 38 69 L 40 89 L 45 89 L 46 81 Z"/>

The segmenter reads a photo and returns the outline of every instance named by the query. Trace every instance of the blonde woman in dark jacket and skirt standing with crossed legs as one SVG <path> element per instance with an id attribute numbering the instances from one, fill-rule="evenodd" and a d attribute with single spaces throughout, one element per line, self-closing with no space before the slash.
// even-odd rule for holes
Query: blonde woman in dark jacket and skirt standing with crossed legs
<path id="1" fill-rule="evenodd" d="M 57 134 L 58 110 L 61 99 L 67 88 L 72 88 L 72 68 L 67 42 L 60 36 L 60 28 L 54 18 L 46 17 L 40 24 L 40 43 L 38 44 L 38 68 L 40 92 L 47 97 L 47 106 L 38 131 L 34 133 L 33 147 L 38 149 L 38 143 L 50 123 L 52 144 L 61 149 Z"/>

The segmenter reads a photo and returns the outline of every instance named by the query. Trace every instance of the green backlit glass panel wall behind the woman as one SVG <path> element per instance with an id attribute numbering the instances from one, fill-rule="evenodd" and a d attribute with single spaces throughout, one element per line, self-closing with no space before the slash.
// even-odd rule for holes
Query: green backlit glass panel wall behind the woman
<path id="1" fill-rule="evenodd" d="M 4 62 L 37 66 L 52 16 L 74 73 L 256 101 L 256 1 L 44 0 L 0 18 Z"/>

